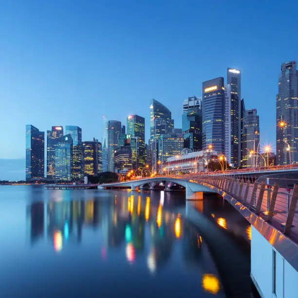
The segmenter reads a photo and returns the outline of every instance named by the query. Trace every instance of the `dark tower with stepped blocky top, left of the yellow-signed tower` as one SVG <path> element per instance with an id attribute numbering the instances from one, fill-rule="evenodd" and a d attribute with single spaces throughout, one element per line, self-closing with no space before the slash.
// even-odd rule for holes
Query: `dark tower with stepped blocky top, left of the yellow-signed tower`
<path id="1" fill-rule="evenodd" d="M 182 132 L 184 148 L 202 150 L 202 98 L 188 97 L 183 102 Z"/>

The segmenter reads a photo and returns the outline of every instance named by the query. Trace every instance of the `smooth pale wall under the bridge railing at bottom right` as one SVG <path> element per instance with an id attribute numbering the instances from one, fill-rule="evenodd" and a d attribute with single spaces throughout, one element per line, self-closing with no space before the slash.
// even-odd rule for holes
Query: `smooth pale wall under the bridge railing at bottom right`
<path id="1" fill-rule="evenodd" d="M 276 256 L 276 288 L 273 293 L 274 253 Z M 298 298 L 298 272 L 273 246 L 251 227 L 251 277 L 263 298 Z"/>

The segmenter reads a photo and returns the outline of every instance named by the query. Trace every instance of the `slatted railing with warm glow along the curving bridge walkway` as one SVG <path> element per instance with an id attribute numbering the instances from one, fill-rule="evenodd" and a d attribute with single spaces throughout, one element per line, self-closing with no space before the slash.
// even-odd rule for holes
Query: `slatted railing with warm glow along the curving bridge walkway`
<path id="1" fill-rule="evenodd" d="M 251 178 L 236 179 L 210 175 L 179 175 L 182 179 L 203 185 L 217 187 L 231 195 L 252 212 L 272 223 L 284 234 L 298 240 L 298 185 L 279 186 L 278 179 L 273 185 L 259 183 Z M 252 180 L 252 181 L 251 181 Z"/>

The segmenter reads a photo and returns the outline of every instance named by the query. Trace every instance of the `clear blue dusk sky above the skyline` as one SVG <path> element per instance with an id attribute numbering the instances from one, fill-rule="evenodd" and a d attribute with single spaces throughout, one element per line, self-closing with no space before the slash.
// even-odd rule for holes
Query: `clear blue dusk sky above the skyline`
<path id="1" fill-rule="evenodd" d="M 24 158 L 25 125 L 78 125 L 101 140 L 105 115 L 146 118 L 202 82 L 242 71 L 242 97 L 275 144 L 282 62 L 298 60 L 297 0 L 0 1 L 0 158 Z"/>

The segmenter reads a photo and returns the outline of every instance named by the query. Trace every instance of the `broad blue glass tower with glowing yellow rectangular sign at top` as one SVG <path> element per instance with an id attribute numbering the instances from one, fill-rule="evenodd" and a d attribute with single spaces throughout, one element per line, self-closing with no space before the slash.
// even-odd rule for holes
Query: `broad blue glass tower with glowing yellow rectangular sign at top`
<path id="1" fill-rule="evenodd" d="M 203 150 L 212 145 L 224 152 L 224 80 L 218 77 L 203 82 Z"/>

